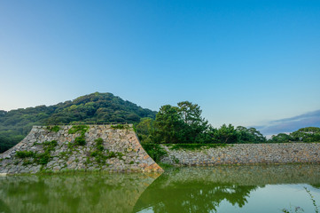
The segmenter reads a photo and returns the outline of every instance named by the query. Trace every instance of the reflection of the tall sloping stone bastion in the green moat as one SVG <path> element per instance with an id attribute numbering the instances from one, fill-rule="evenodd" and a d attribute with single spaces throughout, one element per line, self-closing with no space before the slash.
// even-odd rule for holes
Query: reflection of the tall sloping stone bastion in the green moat
<path id="1" fill-rule="evenodd" d="M 158 173 L 0 177 L 0 212 L 131 212 Z"/>

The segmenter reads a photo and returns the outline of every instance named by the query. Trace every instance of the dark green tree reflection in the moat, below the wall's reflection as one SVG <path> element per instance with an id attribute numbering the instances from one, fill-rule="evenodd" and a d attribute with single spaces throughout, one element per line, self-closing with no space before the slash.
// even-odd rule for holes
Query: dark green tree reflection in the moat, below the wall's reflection
<path id="1" fill-rule="evenodd" d="M 168 184 L 163 174 L 141 195 L 134 211 L 152 207 L 154 212 L 210 212 L 223 201 L 243 207 L 256 185 L 233 185 L 209 181 L 184 181 Z"/>

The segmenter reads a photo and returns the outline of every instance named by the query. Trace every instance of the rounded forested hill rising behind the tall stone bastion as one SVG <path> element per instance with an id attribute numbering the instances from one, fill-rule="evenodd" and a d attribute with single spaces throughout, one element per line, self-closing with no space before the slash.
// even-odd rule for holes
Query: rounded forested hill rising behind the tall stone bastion
<path id="1" fill-rule="evenodd" d="M 0 153 L 20 142 L 33 125 L 70 122 L 139 122 L 157 112 L 137 106 L 112 93 L 92 93 L 53 106 L 0 110 Z"/>

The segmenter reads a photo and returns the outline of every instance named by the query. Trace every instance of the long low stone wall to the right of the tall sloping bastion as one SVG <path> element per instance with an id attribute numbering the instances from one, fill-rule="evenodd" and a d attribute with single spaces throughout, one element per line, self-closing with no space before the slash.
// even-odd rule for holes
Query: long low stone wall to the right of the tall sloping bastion
<path id="1" fill-rule="evenodd" d="M 320 143 L 235 144 L 195 151 L 170 150 L 161 162 L 178 165 L 320 162 Z"/>

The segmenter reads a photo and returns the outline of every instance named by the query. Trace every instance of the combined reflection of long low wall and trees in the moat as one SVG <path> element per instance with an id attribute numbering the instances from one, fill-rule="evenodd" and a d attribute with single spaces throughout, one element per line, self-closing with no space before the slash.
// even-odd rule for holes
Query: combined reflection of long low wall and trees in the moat
<path id="1" fill-rule="evenodd" d="M 319 185 L 320 166 L 308 164 L 174 169 L 162 174 L 144 191 L 134 212 L 218 212 L 221 204 L 226 202 L 243 208 L 251 194 L 265 185 L 298 183 Z M 256 208 L 258 210 L 259 206 Z"/>

